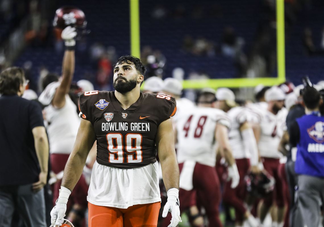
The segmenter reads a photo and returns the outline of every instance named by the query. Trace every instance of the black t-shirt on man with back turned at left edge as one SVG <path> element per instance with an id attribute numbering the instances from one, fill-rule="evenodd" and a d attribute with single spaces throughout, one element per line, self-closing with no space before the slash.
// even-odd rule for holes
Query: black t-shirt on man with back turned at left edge
<path id="1" fill-rule="evenodd" d="M 41 107 L 18 95 L 0 97 L 0 186 L 39 180 L 32 129 L 44 126 Z"/>

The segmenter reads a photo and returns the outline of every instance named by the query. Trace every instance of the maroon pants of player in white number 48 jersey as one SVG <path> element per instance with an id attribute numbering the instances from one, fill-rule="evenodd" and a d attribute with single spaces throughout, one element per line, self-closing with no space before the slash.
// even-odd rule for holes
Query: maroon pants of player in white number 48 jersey
<path id="1" fill-rule="evenodd" d="M 179 164 L 181 171 L 183 163 Z M 186 191 L 182 188 L 179 190 L 180 212 L 196 205 L 196 197 L 199 205 L 203 206 L 206 210 L 208 217 L 209 227 L 222 227 L 219 219 L 219 203 L 221 199 L 220 184 L 217 177 L 215 167 L 196 163 L 193 176 L 192 176 L 193 190 Z M 163 222 L 163 227 L 170 224 L 171 215 Z"/>

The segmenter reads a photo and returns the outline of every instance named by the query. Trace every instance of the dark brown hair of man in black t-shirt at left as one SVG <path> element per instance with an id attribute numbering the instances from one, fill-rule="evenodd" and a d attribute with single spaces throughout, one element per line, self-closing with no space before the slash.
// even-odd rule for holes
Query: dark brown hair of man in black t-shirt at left
<path id="1" fill-rule="evenodd" d="M 22 68 L 10 67 L 0 74 L 0 94 L 17 95 L 19 87 L 25 81 L 25 73 Z"/>

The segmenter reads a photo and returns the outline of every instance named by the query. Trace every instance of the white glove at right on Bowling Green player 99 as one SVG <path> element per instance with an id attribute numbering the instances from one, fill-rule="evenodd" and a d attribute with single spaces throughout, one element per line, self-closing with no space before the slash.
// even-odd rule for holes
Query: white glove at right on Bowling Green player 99
<path id="1" fill-rule="evenodd" d="M 168 212 L 171 213 L 171 224 L 168 227 L 176 227 L 181 222 L 180 217 L 180 202 L 179 202 L 179 190 L 176 188 L 170 188 L 167 192 L 168 201 L 165 204 L 162 212 L 162 217 L 165 218 Z"/>

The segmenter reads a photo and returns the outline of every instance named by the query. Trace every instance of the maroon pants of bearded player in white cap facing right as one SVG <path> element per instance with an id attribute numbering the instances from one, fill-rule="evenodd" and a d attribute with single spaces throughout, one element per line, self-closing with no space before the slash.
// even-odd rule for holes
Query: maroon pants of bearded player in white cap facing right
<path id="1" fill-rule="evenodd" d="M 264 205 L 271 207 L 274 201 L 278 207 L 284 207 L 283 183 L 279 177 L 279 158 L 265 158 L 263 159 L 264 169 L 276 180 L 274 190 L 264 198 Z"/>

